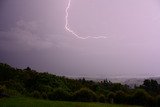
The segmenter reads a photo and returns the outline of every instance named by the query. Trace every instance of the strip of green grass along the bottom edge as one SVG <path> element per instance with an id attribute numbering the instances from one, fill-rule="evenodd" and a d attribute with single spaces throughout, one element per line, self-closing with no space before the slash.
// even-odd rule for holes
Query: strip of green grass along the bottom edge
<path id="1" fill-rule="evenodd" d="M 48 100 L 37 100 L 33 98 L 15 97 L 15 98 L 0 99 L 0 107 L 139 107 L 139 106 L 48 101 Z"/>

